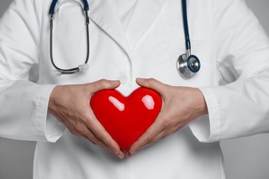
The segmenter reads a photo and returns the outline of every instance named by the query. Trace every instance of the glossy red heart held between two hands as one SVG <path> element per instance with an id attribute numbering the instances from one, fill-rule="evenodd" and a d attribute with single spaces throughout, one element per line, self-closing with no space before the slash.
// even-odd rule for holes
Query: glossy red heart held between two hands
<path id="1" fill-rule="evenodd" d="M 128 97 L 115 89 L 105 89 L 92 96 L 90 106 L 121 149 L 128 150 L 157 118 L 161 97 L 144 87 L 136 89 Z"/>

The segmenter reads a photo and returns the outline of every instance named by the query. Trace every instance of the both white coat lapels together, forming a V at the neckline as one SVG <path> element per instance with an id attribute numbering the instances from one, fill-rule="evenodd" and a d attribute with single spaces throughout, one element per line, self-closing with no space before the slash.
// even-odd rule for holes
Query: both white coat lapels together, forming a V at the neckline
<path id="1" fill-rule="evenodd" d="M 155 21 L 161 12 L 164 1 L 166 0 L 137 0 L 126 32 L 123 30 L 112 3 L 108 0 L 90 1 L 90 19 L 121 45 L 128 56 L 131 56 L 131 50 L 135 48 L 139 39 Z"/>

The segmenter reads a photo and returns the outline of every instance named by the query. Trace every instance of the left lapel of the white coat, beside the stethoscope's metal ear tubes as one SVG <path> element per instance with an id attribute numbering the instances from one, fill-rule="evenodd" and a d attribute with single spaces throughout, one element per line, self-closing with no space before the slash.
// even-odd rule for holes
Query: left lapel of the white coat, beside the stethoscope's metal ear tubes
<path id="1" fill-rule="evenodd" d="M 90 0 L 90 19 L 97 23 L 114 41 L 116 41 L 130 57 L 130 46 L 117 12 L 108 0 Z"/>

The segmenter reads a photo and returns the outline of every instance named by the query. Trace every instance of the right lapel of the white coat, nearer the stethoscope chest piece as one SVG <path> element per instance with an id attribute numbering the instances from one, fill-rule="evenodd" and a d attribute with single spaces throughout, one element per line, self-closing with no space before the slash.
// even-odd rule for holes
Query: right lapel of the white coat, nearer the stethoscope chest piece
<path id="1" fill-rule="evenodd" d="M 139 42 L 139 39 L 147 32 L 150 25 L 155 21 L 161 12 L 163 3 L 166 0 L 137 0 L 137 5 L 132 12 L 132 17 L 126 28 L 126 36 L 131 50 Z"/>

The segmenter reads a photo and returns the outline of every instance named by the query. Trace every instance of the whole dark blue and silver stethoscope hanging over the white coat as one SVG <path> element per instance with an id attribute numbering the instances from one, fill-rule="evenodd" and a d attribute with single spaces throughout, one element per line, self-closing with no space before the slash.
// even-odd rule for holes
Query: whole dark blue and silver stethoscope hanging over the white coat
<path id="1" fill-rule="evenodd" d="M 70 68 L 70 69 L 61 69 L 54 63 L 53 55 L 52 55 L 52 30 L 53 30 L 53 20 L 54 20 L 54 10 L 58 0 L 53 0 L 50 6 L 50 60 L 52 65 L 55 67 L 54 74 L 57 76 L 61 76 L 61 74 L 77 74 L 83 70 L 88 70 L 88 59 L 89 59 L 89 46 L 90 46 L 90 37 L 89 37 L 89 17 L 88 10 L 89 4 L 87 0 L 83 1 L 86 17 L 86 29 L 87 29 L 87 57 L 85 63 L 79 65 L 78 67 Z M 184 34 L 186 41 L 186 54 L 181 54 L 179 59 L 177 59 L 177 71 L 183 78 L 191 78 L 197 72 L 199 72 L 201 63 L 197 56 L 191 54 L 191 46 L 190 46 L 190 35 L 188 30 L 188 18 L 187 18 L 187 4 L 186 0 L 182 0 L 182 12 L 183 12 L 183 26 L 184 26 Z"/>

